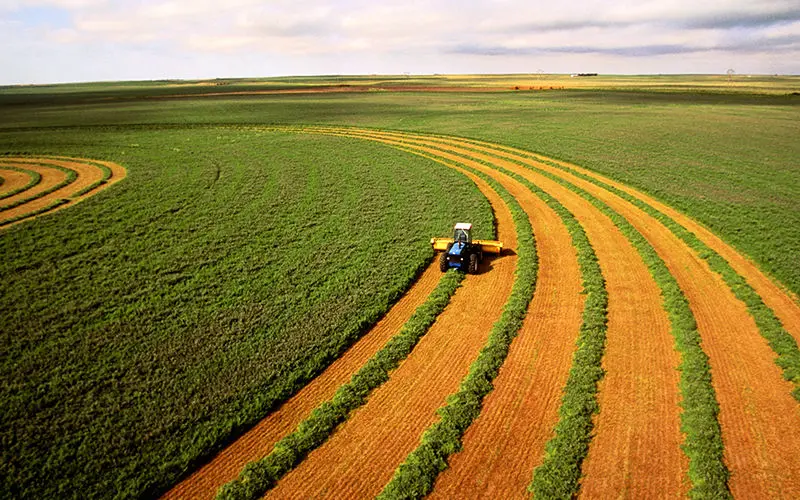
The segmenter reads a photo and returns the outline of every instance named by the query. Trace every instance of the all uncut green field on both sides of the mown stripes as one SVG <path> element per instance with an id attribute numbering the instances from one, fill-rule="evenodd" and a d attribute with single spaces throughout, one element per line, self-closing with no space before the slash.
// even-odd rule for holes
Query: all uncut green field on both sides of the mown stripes
<path id="1" fill-rule="evenodd" d="M 212 90 L 375 81 L 353 80 Z M 485 199 L 443 166 L 258 125 L 453 134 L 571 161 L 703 222 L 800 294 L 798 80 L 608 80 L 179 99 L 148 95 L 209 87 L 0 89 L 0 154 L 128 169 L 76 207 L 0 232 L 3 496 L 163 491 L 374 323 L 430 258 L 430 236 L 457 219 L 491 235 Z"/>

